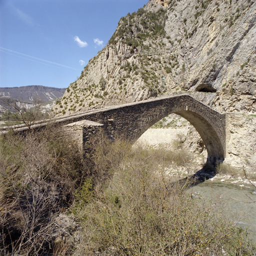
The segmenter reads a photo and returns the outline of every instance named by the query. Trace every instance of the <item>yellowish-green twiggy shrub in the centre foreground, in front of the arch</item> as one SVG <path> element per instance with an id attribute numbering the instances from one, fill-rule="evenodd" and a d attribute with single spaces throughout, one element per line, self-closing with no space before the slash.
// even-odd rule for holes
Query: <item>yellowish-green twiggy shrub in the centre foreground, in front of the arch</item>
<path id="1" fill-rule="evenodd" d="M 113 145 L 102 159 L 119 152 Z M 78 210 L 84 229 L 74 255 L 253 255 L 245 231 L 221 216 L 216 203 L 189 197 L 158 171 L 166 155 L 135 148 L 111 165 L 104 191 L 95 190 Z"/>

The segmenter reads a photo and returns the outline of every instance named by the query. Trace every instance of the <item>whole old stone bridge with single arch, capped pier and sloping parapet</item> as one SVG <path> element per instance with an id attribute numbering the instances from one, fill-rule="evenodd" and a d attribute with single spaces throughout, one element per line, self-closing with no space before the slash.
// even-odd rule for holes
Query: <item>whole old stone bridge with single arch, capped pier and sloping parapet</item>
<path id="1" fill-rule="evenodd" d="M 207 149 L 207 159 L 222 161 L 226 151 L 225 114 L 220 114 L 189 95 L 154 98 L 139 102 L 89 110 L 55 118 L 53 122 L 65 125 L 81 144 L 86 143 L 88 133 L 98 127 L 110 136 L 123 136 L 134 142 L 155 122 L 175 113 L 187 119 L 200 134 Z M 47 125 L 37 123 L 32 128 Z M 16 126 L 16 130 L 26 127 Z"/>

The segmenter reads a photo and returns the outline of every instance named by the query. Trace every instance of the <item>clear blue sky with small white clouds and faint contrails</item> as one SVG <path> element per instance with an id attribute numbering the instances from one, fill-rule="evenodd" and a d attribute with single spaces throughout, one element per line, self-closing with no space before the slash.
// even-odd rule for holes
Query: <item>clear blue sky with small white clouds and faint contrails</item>
<path id="1" fill-rule="evenodd" d="M 0 87 L 67 87 L 148 0 L 0 0 Z"/>

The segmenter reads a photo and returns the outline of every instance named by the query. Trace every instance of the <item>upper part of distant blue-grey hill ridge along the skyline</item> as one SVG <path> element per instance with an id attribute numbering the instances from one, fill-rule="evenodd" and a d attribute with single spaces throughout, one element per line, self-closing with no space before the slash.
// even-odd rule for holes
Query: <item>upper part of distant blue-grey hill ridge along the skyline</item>
<path id="1" fill-rule="evenodd" d="M 0 97 L 8 97 L 26 102 L 32 102 L 34 97 L 43 102 L 62 97 L 66 88 L 47 87 L 42 85 L 28 85 L 20 87 L 0 88 Z"/>

